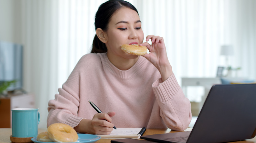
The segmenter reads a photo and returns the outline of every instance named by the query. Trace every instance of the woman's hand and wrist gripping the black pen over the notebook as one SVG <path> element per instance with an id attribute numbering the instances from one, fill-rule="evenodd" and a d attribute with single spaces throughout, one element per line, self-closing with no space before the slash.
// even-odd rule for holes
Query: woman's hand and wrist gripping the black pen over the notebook
<path id="1" fill-rule="evenodd" d="M 97 113 L 93 119 L 82 119 L 74 129 L 79 133 L 108 135 L 113 131 L 114 124 L 111 117 L 115 114 L 115 112 Z"/>

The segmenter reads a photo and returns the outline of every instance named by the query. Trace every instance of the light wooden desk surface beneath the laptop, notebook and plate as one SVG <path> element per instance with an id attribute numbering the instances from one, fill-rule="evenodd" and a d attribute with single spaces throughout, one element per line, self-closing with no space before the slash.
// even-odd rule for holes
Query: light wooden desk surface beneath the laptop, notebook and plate
<path id="1" fill-rule="evenodd" d="M 188 129 L 191 130 L 191 129 Z M 46 129 L 38 129 L 38 133 L 45 132 Z M 170 129 L 147 129 L 144 135 L 175 133 L 177 131 L 171 131 Z M 0 128 L 0 143 L 11 143 L 10 140 L 11 128 Z M 112 139 L 100 139 L 96 143 L 110 143 Z M 237 141 L 233 143 L 256 143 L 256 137 L 244 141 Z"/>

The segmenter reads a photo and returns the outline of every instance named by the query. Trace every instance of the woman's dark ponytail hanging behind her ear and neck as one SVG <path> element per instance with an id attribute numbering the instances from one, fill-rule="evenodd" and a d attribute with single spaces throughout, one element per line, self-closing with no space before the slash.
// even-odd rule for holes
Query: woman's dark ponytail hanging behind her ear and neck
<path id="1" fill-rule="evenodd" d="M 106 44 L 101 42 L 98 36 L 95 34 L 93 39 L 93 48 L 91 53 L 106 53 L 108 51 Z"/>

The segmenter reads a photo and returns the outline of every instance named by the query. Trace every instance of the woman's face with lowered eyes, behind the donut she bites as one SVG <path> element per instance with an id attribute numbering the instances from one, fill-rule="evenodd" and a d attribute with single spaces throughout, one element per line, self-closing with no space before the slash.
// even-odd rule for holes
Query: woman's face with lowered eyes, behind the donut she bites
<path id="1" fill-rule="evenodd" d="M 135 10 L 120 8 L 109 21 L 106 31 L 109 56 L 121 56 L 127 59 L 135 59 L 138 56 L 126 54 L 121 50 L 122 44 L 140 44 L 144 34 L 141 29 L 141 21 Z"/>

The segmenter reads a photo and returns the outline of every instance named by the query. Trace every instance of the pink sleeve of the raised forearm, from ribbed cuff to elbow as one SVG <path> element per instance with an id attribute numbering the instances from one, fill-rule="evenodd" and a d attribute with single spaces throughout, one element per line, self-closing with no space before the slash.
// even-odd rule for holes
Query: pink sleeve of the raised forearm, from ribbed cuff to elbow
<path id="1" fill-rule="evenodd" d="M 162 82 L 161 78 L 152 85 L 160 116 L 168 128 L 176 131 L 185 130 L 191 122 L 191 104 L 185 97 L 175 75 Z"/>

